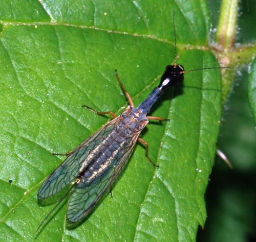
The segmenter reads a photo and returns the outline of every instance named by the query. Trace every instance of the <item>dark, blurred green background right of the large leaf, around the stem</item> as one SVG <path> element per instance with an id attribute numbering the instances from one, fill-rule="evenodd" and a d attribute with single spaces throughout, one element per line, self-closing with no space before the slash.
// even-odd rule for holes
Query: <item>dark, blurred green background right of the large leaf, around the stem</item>
<path id="1" fill-rule="evenodd" d="M 221 1 L 207 0 L 212 29 L 217 28 Z M 236 45 L 256 42 L 256 1 L 239 4 Z M 207 220 L 197 241 L 256 241 L 256 130 L 247 99 L 250 63 L 237 68 L 223 108 L 218 147 L 233 165 L 216 158 L 206 190 Z"/>

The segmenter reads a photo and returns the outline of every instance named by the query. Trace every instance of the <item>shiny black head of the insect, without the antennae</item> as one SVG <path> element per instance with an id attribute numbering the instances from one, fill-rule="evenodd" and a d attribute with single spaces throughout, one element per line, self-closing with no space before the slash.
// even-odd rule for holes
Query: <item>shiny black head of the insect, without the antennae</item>
<path id="1" fill-rule="evenodd" d="M 167 65 L 161 77 L 158 88 L 164 90 L 167 87 L 172 87 L 178 82 L 184 81 L 184 67 L 182 65 Z"/>

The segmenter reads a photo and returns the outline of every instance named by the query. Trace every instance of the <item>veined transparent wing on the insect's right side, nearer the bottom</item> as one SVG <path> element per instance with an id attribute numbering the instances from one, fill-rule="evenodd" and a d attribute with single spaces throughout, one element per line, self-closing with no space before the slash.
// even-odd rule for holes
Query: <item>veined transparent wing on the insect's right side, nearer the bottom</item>
<path id="1" fill-rule="evenodd" d="M 113 155 L 112 160 L 103 172 L 98 172 L 94 175 L 91 182 L 85 176 L 77 184 L 69 201 L 67 211 L 67 221 L 75 223 L 86 216 L 89 211 L 95 206 L 104 193 L 110 189 L 118 175 L 122 172 L 124 166 L 129 160 L 139 134 L 136 134 L 132 139 L 118 149 L 116 155 Z"/>

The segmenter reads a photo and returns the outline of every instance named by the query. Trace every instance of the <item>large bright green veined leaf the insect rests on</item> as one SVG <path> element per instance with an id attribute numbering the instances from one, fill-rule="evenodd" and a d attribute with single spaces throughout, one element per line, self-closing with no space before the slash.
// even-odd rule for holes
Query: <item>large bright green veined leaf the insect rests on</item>
<path id="1" fill-rule="evenodd" d="M 219 131 L 218 70 L 186 73 L 183 85 L 166 90 L 152 109 L 150 115 L 170 119 L 142 133 L 160 168 L 137 145 L 113 199 L 106 195 L 75 226 L 67 225 L 63 202 L 34 231 L 59 200 L 37 201 L 40 185 L 61 163 L 51 152 L 74 149 L 108 121 L 81 106 L 120 114 L 128 103 L 115 69 L 137 106 L 174 63 L 173 11 L 177 62 L 187 70 L 218 66 L 198 47 L 210 26 L 205 2 L 40 3 L 6 2 L 0 12 L 1 240 L 195 241 L 206 219 L 204 192 Z"/>

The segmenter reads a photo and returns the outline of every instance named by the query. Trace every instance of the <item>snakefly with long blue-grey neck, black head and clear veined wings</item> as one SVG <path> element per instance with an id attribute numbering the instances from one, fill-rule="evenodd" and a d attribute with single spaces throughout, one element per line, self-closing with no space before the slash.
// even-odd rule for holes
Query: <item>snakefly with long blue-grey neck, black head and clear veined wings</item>
<path id="1" fill-rule="evenodd" d="M 41 185 L 38 191 L 38 199 L 47 199 L 65 188 L 72 181 L 75 182 L 69 188 L 66 195 L 46 216 L 44 221 L 42 221 L 40 226 L 72 189 L 74 190 L 69 200 L 67 210 L 68 223 L 76 223 L 81 220 L 82 217 L 86 216 L 104 193 L 112 188 L 114 181 L 123 171 L 128 162 L 137 141 L 141 141 L 145 144 L 145 155 L 147 159 L 150 160 L 154 166 L 157 166 L 151 161 L 150 157 L 148 157 L 147 142 L 141 139 L 139 135 L 143 128 L 148 124 L 149 119 L 160 121 L 166 120 L 162 117 L 146 115 L 166 88 L 172 87 L 184 80 L 184 73 L 187 71 L 184 70 L 182 65 L 176 64 L 176 55 L 175 34 L 175 64 L 166 66 L 160 84 L 154 88 L 150 95 L 137 108 L 134 107 L 129 92 L 126 91 L 121 83 L 117 71 L 117 80 L 125 92 L 125 95 L 130 102 L 130 106 L 128 106 L 119 116 L 116 116 L 110 111 L 97 112 L 90 107 L 84 106 L 96 114 L 111 114 L 114 119 L 84 140 L 73 151 L 67 154 L 55 154 L 68 155 L 68 157 Z"/>

